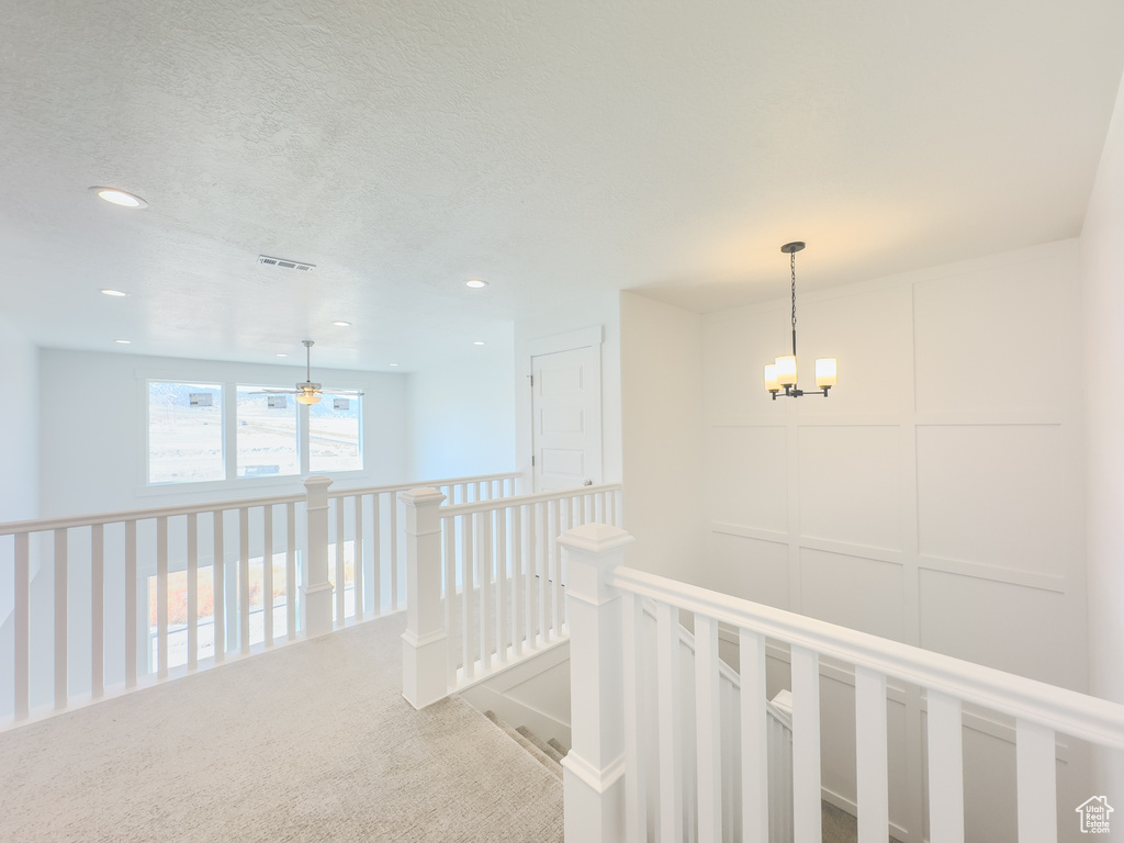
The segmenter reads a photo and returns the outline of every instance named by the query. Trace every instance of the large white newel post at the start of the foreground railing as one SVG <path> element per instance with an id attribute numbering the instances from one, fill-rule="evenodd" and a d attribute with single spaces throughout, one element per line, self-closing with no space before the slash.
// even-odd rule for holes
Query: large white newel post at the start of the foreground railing
<path id="1" fill-rule="evenodd" d="M 633 541 L 606 524 L 584 524 L 559 538 L 570 618 L 573 747 L 562 760 L 568 841 L 625 835 L 620 593 L 609 580 Z"/>

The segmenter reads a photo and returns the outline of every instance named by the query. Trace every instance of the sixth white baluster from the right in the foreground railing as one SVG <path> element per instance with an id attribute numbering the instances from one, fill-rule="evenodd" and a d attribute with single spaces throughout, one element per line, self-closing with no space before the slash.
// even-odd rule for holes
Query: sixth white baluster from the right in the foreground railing
<path id="1" fill-rule="evenodd" d="M 718 622 L 695 615 L 695 725 L 698 756 L 698 840 L 722 842 L 722 709 Z"/>

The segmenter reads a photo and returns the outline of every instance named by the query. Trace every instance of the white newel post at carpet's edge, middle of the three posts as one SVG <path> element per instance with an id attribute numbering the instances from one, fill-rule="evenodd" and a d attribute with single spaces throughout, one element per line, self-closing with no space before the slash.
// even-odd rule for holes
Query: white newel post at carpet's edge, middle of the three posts
<path id="1" fill-rule="evenodd" d="M 441 502 L 436 489 L 411 489 L 406 507 L 406 632 L 402 696 L 425 708 L 448 696 L 448 645 L 441 605 Z"/>

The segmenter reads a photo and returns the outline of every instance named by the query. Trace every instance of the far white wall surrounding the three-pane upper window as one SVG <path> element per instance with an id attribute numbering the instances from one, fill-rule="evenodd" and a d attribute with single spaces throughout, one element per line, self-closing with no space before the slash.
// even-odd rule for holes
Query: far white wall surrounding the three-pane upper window
<path id="1" fill-rule="evenodd" d="M 264 382 L 305 380 L 302 368 L 250 365 L 174 357 L 45 348 L 39 355 L 42 517 L 172 506 L 299 491 L 294 478 L 245 482 L 237 489 L 200 491 L 144 487 L 145 377 L 170 380 Z M 406 377 L 319 370 L 327 386 L 354 387 L 364 397 L 366 470 L 345 486 L 402 482 L 406 448 Z M 269 489 L 269 491 L 263 491 Z"/>

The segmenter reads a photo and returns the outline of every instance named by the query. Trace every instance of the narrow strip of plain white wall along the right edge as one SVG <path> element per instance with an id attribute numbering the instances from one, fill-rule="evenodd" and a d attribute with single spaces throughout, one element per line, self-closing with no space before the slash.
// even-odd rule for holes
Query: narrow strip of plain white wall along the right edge
<path id="1" fill-rule="evenodd" d="M 1124 82 L 1081 232 L 1081 277 L 1089 690 L 1124 703 Z M 1124 801 L 1120 753 L 1102 758 L 1098 774 L 1097 792 Z"/>

